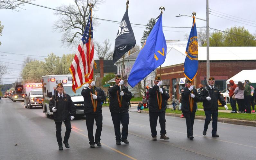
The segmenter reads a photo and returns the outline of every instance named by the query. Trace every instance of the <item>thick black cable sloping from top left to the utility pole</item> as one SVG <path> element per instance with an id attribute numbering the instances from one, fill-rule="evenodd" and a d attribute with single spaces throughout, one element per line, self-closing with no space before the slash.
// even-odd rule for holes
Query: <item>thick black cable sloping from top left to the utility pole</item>
<path id="1" fill-rule="evenodd" d="M 62 11 L 62 10 L 59 10 L 59 9 L 50 8 L 50 7 L 47 7 L 47 6 L 43 6 L 43 5 L 39 5 L 39 4 L 34 4 L 34 3 L 31 3 L 31 2 L 24 2 L 24 1 L 21 1 L 21 0 L 17 0 L 17 1 L 20 1 L 20 2 L 23 2 L 23 3 L 27 3 L 27 4 L 36 5 L 36 6 L 39 6 L 39 7 L 43 7 L 43 8 L 47 8 L 47 9 L 51 9 L 51 10 L 55 10 L 55 11 L 59 11 L 59 12 L 64 12 L 64 13 L 68 13 L 68 14 L 74 14 L 74 15 L 78 15 L 78 16 L 83 16 L 83 15 L 80 15 L 80 14 L 77 14 L 77 13 L 66 12 L 66 11 Z M 88 17 L 88 16 L 85 16 L 85 17 Z M 105 21 L 110 21 L 110 22 L 117 22 L 118 24 L 121 23 L 120 21 L 115 21 L 115 20 L 107 20 L 107 19 L 101 19 L 101 18 L 95 18 L 95 17 L 92 17 L 92 18 L 93 19 L 97 19 L 97 20 L 105 20 Z M 149 25 L 145 25 L 145 24 L 136 24 L 136 23 L 131 23 L 131 24 L 139 25 L 139 26 L 149 26 Z M 166 27 L 166 28 L 191 28 L 191 27 L 170 27 L 170 26 L 163 26 L 163 27 Z M 197 27 L 197 28 L 206 28 L 206 27 Z"/>

